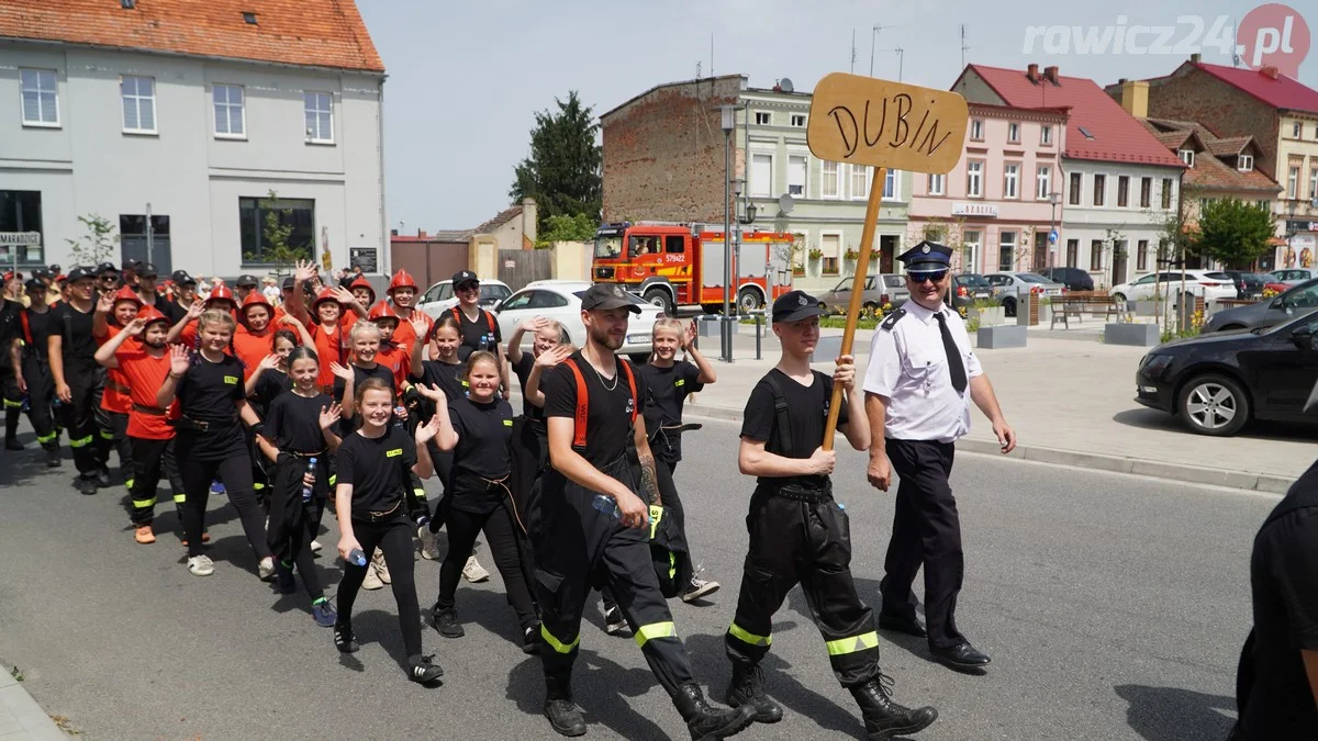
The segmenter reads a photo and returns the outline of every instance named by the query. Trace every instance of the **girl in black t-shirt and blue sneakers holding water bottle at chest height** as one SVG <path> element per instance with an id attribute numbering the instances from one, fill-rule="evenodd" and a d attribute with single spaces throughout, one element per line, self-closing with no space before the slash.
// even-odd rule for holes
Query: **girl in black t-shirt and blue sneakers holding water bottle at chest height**
<path id="1" fill-rule="evenodd" d="M 270 550 L 275 555 L 279 591 L 293 593 L 293 566 L 297 564 L 311 597 L 311 616 L 316 625 L 330 628 L 336 614 L 320 587 L 311 543 L 330 492 L 330 456 L 339 448 L 340 410 L 316 388 L 320 363 L 314 349 L 294 349 L 287 367 L 293 390 L 270 403 L 265 427 L 257 436 L 261 454 L 274 464 L 268 525 Z"/>

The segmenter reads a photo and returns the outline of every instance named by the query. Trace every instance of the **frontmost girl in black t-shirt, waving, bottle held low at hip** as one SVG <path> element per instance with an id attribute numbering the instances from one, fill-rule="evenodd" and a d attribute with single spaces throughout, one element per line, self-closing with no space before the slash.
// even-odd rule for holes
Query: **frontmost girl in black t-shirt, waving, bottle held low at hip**
<path id="1" fill-rule="evenodd" d="M 416 581 L 413 572 L 413 522 L 407 518 L 403 498 L 409 490 L 409 472 L 422 479 L 434 468 L 426 443 L 439 430 L 439 419 L 416 426 L 415 439 L 391 423 L 394 394 L 378 378 L 368 378 L 357 388 L 355 414 L 361 427 L 345 435 L 339 444 L 339 471 L 335 485 L 335 510 L 339 514 L 339 555 L 344 559 L 343 581 L 339 583 L 339 620 L 333 626 L 335 646 L 344 653 L 358 649 L 352 633 L 352 605 L 366 578 L 370 558 L 378 548 L 390 567 L 398 622 L 407 650 L 407 678 L 434 682 L 444 671 L 434 657 L 422 655 L 420 607 L 416 604 Z"/>

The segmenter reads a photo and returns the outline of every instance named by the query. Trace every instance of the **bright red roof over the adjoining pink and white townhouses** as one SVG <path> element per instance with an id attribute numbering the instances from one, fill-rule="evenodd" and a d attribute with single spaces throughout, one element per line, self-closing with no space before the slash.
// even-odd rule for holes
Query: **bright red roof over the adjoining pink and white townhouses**
<path id="1" fill-rule="evenodd" d="M 1094 80 L 1058 75 L 1057 84 L 1041 76 L 1036 84 L 1029 82 L 1024 70 L 985 65 L 967 65 L 961 78 L 967 74 L 978 75 L 1007 105 L 1019 108 L 1069 105 L 1066 152 L 1062 153 L 1065 157 L 1168 167 L 1185 166 Z M 954 84 L 953 88 L 956 87 Z M 1089 131 L 1093 138 L 1086 137 L 1081 128 Z"/>

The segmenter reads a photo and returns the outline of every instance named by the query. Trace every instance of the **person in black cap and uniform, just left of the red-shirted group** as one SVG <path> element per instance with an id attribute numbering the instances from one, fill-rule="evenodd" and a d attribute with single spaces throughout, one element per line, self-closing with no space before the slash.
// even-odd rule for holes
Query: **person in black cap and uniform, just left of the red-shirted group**
<path id="1" fill-rule="evenodd" d="M 98 487 L 109 487 L 105 461 L 111 442 L 96 426 L 105 384 L 105 370 L 96 365 L 96 339 L 92 336 L 96 273 L 91 268 L 74 268 L 67 282 L 69 301 L 61 302 L 50 318 L 50 376 L 78 467 L 76 488 L 83 494 L 95 494 Z"/>

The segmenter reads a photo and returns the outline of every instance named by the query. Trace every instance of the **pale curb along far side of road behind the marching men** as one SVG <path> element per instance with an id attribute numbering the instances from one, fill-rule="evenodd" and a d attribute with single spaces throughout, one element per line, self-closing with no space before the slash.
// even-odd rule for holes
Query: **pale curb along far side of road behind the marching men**
<path id="1" fill-rule="evenodd" d="M 688 402 L 687 411 L 691 415 L 704 417 L 706 419 L 722 419 L 728 422 L 741 422 L 742 419 L 742 411 L 739 409 L 729 409 L 726 406 L 710 406 Z M 957 440 L 957 450 L 1002 458 L 1002 447 L 996 440 L 962 438 Z M 1227 487 L 1231 489 L 1246 489 L 1249 492 L 1265 492 L 1271 494 L 1285 494 L 1294 483 L 1293 479 L 1275 473 L 1249 473 L 1243 471 L 1226 471 L 1222 468 L 1203 468 L 1198 465 L 1185 465 L 1182 463 L 1162 463 L 1141 458 L 1068 451 L 1041 446 L 1016 446 L 1016 450 L 1012 451 L 1010 458 L 1033 460 L 1036 463 L 1073 465 L 1075 468 L 1089 468 L 1093 471 L 1107 471 L 1110 473 L 1133 473 L 1135 476 L 1165 479 L 1181 484 L 1207 484 L 1211 487 Z"/>

